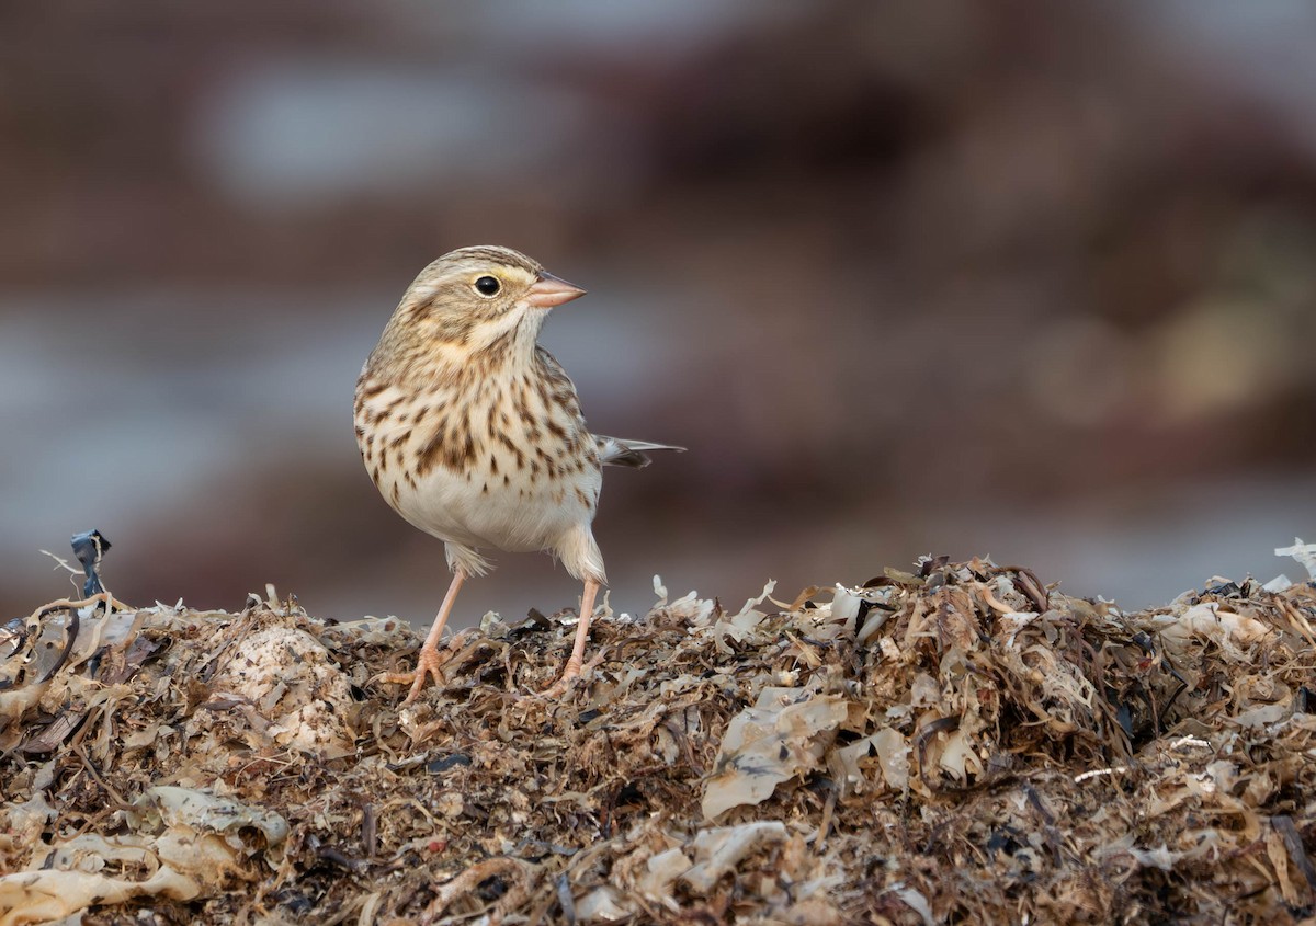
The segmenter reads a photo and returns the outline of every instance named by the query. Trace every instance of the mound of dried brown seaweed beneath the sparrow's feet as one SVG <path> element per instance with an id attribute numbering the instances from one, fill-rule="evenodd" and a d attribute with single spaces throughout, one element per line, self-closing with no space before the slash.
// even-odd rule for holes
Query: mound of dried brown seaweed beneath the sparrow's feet
<path id="1" fill-rule="evenodd" d="M 0 925 L 1254 922 L 1316 901 L 1316 591 L 1028 570 L 401 622 L 101 595 L 0 635 Z"/>

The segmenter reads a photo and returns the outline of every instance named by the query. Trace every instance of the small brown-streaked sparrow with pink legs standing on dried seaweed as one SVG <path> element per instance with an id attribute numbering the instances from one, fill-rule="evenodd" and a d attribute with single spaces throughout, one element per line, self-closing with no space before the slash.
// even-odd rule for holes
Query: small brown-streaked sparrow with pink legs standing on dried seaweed
<path id="1" fill-rule="evenodd" d="M 462 584 L 486 551 L 546 551 L 579 581 L 580 618 L 561 694 L 584 664 L 599 589 L 607 585 L 594 517 L 603 467 L 649 466 L 676 447 L 592 434 L 575 385 L 538 343 L 550 309 L 586 295 L 509 247 L 450 251 L 403 293 L 357 379 L 354 420 L 366 471 L 384 501 L 443 542 L 453 579 L 407 684 L 442 684 L 438 642 Z"/>

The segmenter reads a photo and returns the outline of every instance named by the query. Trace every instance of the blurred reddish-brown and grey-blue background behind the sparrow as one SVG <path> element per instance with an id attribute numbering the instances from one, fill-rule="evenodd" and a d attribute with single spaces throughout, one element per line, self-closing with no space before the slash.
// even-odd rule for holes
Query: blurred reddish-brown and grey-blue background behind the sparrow
<path id="1" fill-rule="evenodd" d="M 0 188 L 5 617 L 99 527 L 134 604 L 428 622 L 351 395 L 472 243 L 590 289 L 592 427 L 690 447 L 608 472 L 619 609 L 925 552 L 1138 606 L 1316 534 L 1296 0 L 7 4 Z M 578 595 L 503 556 L 458 620 Z"/>

